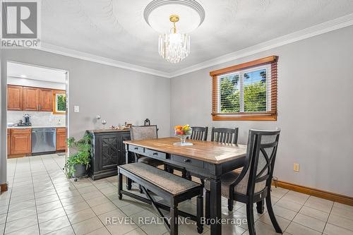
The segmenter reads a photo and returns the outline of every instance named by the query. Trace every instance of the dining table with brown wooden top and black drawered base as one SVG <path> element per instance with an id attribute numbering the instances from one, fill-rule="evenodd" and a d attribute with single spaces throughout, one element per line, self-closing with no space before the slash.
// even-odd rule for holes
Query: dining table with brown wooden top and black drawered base
<path id="1" fill-rule="evenodd" d="M 244 166 L 246 145 L 186 140 L 189 145 L 178 145 L 179 138 L 126 140 L 126 163 L 135 161 L 128 152 L 158 159 L 186 169 L 192 176 L 210 181 L 210 234 L 222 234 L 221 176 Z M 190 144 L 192 143 L 192 145 Z M 127 189 L 131 189 L 128 179 Z"/>

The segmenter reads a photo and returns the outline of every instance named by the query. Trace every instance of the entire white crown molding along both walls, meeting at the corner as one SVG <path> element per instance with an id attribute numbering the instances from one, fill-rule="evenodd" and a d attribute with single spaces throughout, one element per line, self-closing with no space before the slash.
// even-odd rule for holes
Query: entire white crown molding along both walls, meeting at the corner
<path id="1" fill-rule="evenodd" d="M 329 20 L 325 23 L 313 25 L 309 28 L 305 28 L 304 30 L 299 30 L 297 32 L 289 33 L 288 35 L 285 35 L 282 37 L 277 37 L 277 38 L 275 38 L 273 40 L 269 40 L 267 42 L 262 42 L 260 44 L 256 44 L 251 47 L 246 47 L 246 48 L 241 49 L 237 52 L 232 52 L 229 54 L 225 54 L 224 56 L 219 56 L 215 59 L 203 61 L 199 64 L 195 64 L 195 65 L 189 66 L 187 68 L 182 68 L 182 69 L 180 69 L 178 71 L 174 71 L 172 73 L 158 71 L 153 68 L 147 68 L 147 67 L 138 66 L 135 64 L 128 64 L 123 61 L 117 61 L 117 60 L 109 59 L 109 58 L 106 58 L 103 56 L 96 56 L 94 54 L 79 52 L 79 51 L 76 51 L 73 49 L 58 47 L 53 44 L 47 44 L 44 42 L 42 42 L 42 47 L 40 48 L 40 50 L 42 50 L 44 52 L 52 52 L 54 54 L 61 54 L 64 56 L 70 56 L 70 57 L 77 58 L 77 59 L 83 59 L 86 61 L 92 61 L 92 62 L 96 62 L 99 64 L 105 64 L 108 66 L 114 66 L 117 68 L 126 68 L 128 70 L 137 71 L 140 73 L 148 73 L 148 74 L 160 76 L 163 78 L 175 78 L 177 76 L 181 76 L 186 73 L 198 71 L 203 68 L 208 68 L 210 66 L 216 66 L 218 64 L 226 63 L 228 61 L 233 61 L 235 59 L 239 59 L 239 58 L 242 58 L 245 56 L 250 56 L 252 54 L 256 54 L 259 52 L 264 52 L 268 49 L 273 49 L 275 47 L 281 47 L 285 44 L 290 44 L 293 42 L 304 40 L 309 37 L 321 35 L 325 32 L 330 32 L 333 30 L 338 30 L 340 28 L 345 28 L 350 25 L 353 25 L 353 13 L 346 15 L 346 16 L 342 16 L 340 18 L 336 18 L 334 20 Z"/>

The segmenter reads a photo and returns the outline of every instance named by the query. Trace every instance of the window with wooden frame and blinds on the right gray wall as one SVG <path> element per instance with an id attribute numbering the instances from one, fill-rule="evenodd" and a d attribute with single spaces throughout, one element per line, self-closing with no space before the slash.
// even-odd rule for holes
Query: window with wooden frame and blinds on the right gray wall
<path id="1" fill-rule="evenodd" d="M 277 120 L 277 56 L 210 72 L 213 120 Z"/>

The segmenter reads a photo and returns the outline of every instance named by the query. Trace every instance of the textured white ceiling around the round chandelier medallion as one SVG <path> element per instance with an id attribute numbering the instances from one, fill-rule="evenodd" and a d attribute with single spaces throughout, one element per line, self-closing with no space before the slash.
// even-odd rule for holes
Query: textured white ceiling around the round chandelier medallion
<path id="1" fill-rule="evenodd" d="M 42 42 L 170 73 L 353 13 L 353 0 L 198 0 L 191 54 L 169 64 L 143 18 L 150 1 L 44 0 Z"/>

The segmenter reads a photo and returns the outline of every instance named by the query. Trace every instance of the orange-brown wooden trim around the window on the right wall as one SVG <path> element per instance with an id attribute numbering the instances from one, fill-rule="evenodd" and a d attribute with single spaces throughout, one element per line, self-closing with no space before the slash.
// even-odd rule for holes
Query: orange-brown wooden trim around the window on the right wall
<path id="1" fill-rule="evenodd" d="M 213 121 L 277 121 L 277 61 L 278 56 L 268 56 L 262 59 L 256 59 L 236 66 L 221 68 L 215 71 L 210 71 L 212 82 L 212 117 Z M 218 76 L 226 73 L 234 73 L 246 68 L 253 68 L 270 64 L 271 66 L 271 111 L 270 112 L 242 112 L 234 114 L 218 113 Z"/>

